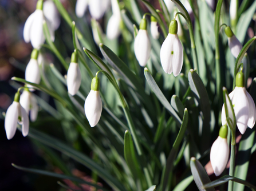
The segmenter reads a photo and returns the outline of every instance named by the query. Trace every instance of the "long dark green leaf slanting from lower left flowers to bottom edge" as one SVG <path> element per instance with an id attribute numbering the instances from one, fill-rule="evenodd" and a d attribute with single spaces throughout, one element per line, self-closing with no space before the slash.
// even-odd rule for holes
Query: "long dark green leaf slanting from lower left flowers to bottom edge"
<path id="1" fill-rule="evenodd" d="M 106 182 L 108 182 L 109 185 L 112 186 L 113 189 L 120 191 L 126 190 L 124 186 L 119 181 L 117 181 L 115 177 L 109 174 L 107 170 L 94 162 L 88 156 L 76 151 L 75 149 L 62 143 L 60 140 L 54 139 L 53 137 L 45 135 L 44 133 L 41 133 L 36 129 L 31 128 L 29 129 L 29 137 L 36 139 L 37 141 L 40 141 L 41 143 L 48 145 L 49 147 L 57 149 L 58 151 L 64 153 L 65 155 L 68 155 L 77 162 L 85 165 L 89 169 L 95 170 L 101 178 L 103 178 Z"/>

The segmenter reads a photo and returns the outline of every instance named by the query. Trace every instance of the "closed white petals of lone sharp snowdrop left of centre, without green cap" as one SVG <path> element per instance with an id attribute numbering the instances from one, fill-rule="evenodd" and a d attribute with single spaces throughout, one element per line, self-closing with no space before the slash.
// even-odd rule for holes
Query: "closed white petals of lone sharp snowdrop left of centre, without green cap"
<path id="1" fill-rule="evenodd" d="M 99 91 L 90 90 L 85 100 L 84 110 L 90 127 L 97 125 L 102 112 L 102 102 Z"/>

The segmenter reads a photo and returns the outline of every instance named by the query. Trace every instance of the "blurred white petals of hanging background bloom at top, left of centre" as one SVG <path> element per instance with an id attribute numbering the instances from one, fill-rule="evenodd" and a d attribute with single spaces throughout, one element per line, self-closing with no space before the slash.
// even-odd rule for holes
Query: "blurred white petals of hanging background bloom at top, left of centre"
<path id="1" fill-rule="evenodd" d="M 120 22 L 121 18 L 118 15 L 113 14 L 111 18 L 109 18 L 107 25 L 107 36 L 109 39 L 115 39 L 120 35 Z"/>

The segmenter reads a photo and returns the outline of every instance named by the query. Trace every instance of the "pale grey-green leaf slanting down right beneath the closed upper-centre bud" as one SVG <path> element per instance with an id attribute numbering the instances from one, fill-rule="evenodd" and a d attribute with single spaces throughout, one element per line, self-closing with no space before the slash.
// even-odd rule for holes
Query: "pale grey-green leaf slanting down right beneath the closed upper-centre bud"
<path id="1" fill-rule="evenodd" d="M 163 104 L 163 106 L 171 113 L 171 116 L 174 117 L 174 119 L 179 123 L 182 124 L 182 120 L 177 115 L 177 113 L 174 111 L 174 109 L 171 107 L 171 104 L 169 101 L 167 101 L 166 97 L 164 96 L 163 92 L 160 90 L 160 88 L 157 86 L 156 81 L 153 79 L 152 75 L 148 71 L 148 68 L 144 68 L 144 75 L 145 78 L 148 81 L 149 86 L 152 88 L 153 92 L 159 99 L 159 101 Z"/>

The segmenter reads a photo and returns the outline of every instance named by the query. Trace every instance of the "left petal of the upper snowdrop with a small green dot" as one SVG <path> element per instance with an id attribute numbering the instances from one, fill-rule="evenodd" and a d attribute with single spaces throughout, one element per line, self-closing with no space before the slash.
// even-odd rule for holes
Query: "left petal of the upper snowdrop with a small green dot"
<path id="1" fill-rule="evenodd" d="M 174 54 L 171 53 L 172 51 L 174 51 L 174 39 L 175 35 L 169 33 L 160 49 L 161 64 L 164 72 L 166 72 L 167 74 L 172 74 L 172 59 L 174 57 Z"/>

